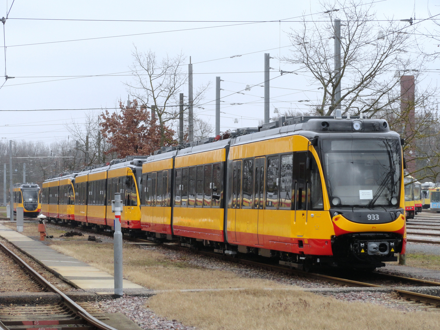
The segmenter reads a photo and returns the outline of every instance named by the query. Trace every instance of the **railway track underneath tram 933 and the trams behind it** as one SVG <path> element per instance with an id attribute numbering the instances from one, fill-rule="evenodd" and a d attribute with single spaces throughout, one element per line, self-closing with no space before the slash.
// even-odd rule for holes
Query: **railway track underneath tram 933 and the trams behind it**
<path id="1" fill-rule="evenodd" d="M 70 228 L 74 227 L 72 225 L 67 225 L 67 224 L 57 224 L 57 225 L 62 226 L 62 227 L 70 227 Z M 84 227 L 80 227 L 80 228 L 83 231 L 88 231 L 90 233 L 96 233 L 95 230 L 89 230 L 88 228 L 84 228 Z M 112 234 L 110 234 L 109 232 L 100 231 L 99 234 L 112 236 Z M 124 236 L 123 238 L 125 240 L 131 241 L 131 242 L 151 242 L 151 241 L 147 241 L 144 239 L 132 238 L 132 237 L 128 237 L 128 236 Z M 440 282 L 433 282 L 433 281 L 428 281 L 425 279 L 408 278 L 408 277 L 404 277 L 404 276 L 391 275 L 391 274 L 378 273 L 378 272 L 370 273 L 372 278 L 369 278 L 368 282 L 361 282 L 361 281 L 356 281 L 355 279 L 341 278 L 341 277 L 332 276 L 332 275 L 301 271 L 298 269 L 294 269 L 294 268 L 290 268 L 290 267 L 286 267 L 286 266 L 278 265 L 278 264 L 267 264 L 265 262 L 261 262 L 260 260 L 249 260 L 249 259 L 243 259 L 243 258 L 236 258 L 236 257 L 231 257 L 231 256 L 220 254 L 220 253 L 214 253 L 211 251 L 204 251 L 202 249 L 193 249 L 193 248 L 183 247 L 177 243 L 162 243 L 161 246 L 164 246 L 169 249 L 191 251 L 191 252 L 203 254 L 205 256 L 220 258 L 222 260 L 228 260 L 231 262 L 246 264 L 249 266 L 259 267 L 259 268 L 267 269 L 270 271 L 276 271 L 276 272 L 290 274 L 290 275 L 303 276 L 303 277 L 310 278 L 310 279 L 322 280 L 322 281 L 336 283 L 336 284 L 340 284 L 340 285 L 344 285 L 344 286 L 384 288 L 389 291 L 394 291 L 400 297 L 402 297 L 403 299 L 406 299 L 407 301 L 421 302 L 423 304 L 427 304 L 427 305 L 435 306 L 436 308 L 440 308 L 440 297 L 429 295 L 429 294 L 424 294 L 424 293 L 413 292 L 413 291 L 409 291 L 409 290 L 402 290 L 401 288 L 396 288 L 393 286 L 388 286 L 388 285 L 377 283 L 377 282 L 391 281 L 391 282 L 400 283 L 402 285 L 408 285 L 408 286 L 411 285 L 412 287 L 416 286 L 416 287 L 439 288 L 438 292 L 440 293 Z M 352 277 L 353 276 L 356 276 L 356 275 L 353 274 Z M 357 276 L 359 276 L 359 274 L 357 274 Z"/>

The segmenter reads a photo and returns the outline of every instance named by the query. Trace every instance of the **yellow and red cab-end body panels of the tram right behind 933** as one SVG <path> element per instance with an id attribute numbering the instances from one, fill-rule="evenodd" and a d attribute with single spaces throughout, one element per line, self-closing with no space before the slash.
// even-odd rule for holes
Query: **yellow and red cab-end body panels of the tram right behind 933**
<path id="1" fill-rule="evenodd" d="M 123 167 L 120 169 L 110 169 L 107 172 L 107 180 L 121 177 L 121 176 L 131 176 L 134 180 L 137 187 L 136 177 L 133 175 L 132 169 L 129 167 Z M 139 189 L 137 189 L 139 191 Z M 114 196 L 111 196 L 111 200 L 114 199 Z M 121 194 L 121 199 L 124 199 L 124 196 Z M 121 227 L 129 228 L 129 229 L 140 229 L 140 207 L 139 207 L 139 194 L 136 194 L 137 206 L 122 206 L 121 211 Z M 114 213 L 111 212 L 111 205 L 106 206 L 106 224 L 108 226 L 114 226 Z"/>

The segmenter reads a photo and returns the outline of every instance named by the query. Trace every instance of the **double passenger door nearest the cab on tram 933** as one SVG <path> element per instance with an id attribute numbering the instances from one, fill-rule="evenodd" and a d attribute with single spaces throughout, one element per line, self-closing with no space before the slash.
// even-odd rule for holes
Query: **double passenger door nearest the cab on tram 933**
<path id="1" fill-rule="evenodd" d="M 255 196 L 254 209 L 257 209 L 257 239 L 258 245 L 264 245 L 263 224 L 264 224 L 264 165 L 266 157 L 255 158 Z"/>

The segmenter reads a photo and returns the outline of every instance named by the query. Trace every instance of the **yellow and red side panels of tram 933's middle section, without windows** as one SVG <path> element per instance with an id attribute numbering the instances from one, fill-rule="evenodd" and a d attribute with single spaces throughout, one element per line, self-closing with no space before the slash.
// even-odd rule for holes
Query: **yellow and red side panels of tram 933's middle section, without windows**
<path id="1" fill-rule="evenodd" d="M 220 148 L 176 157 L 174 168 L 223 163 L 224 161 L 226 161 L 226 150 Z M 223 242 L 224 209 L 210 207 L 210 205 L 208 207 L 175 206 L 172 228 L 175 235 Z"/>

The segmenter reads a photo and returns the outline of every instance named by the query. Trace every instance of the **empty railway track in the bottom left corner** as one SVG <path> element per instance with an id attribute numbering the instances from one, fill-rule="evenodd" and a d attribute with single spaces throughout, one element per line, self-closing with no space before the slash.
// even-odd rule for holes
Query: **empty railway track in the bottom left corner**
<path id="1" fill-rule="evenodd" d="M 1 242 L 0 274 L 0 330 L 116 330 L 55 288 Z M 6 303 L 23 300 L 35 304 Z"/>

